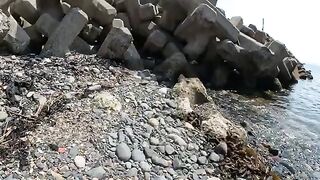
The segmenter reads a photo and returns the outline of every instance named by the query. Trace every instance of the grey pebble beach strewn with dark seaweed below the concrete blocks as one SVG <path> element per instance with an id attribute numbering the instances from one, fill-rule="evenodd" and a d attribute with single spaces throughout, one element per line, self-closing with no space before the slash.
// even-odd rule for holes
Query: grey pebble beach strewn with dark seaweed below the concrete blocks
<path id="1" fill-rule="evenodd" d="M 224 120 L 214 102 L 184 114 L 175 88 L 159 85 L 148 71 L 79 54 L 1 62 L 3 179 L 272 176 L 266 159 L 238 144 L 240 133 L 230 136 L 218 121 L 206 127 L 207 114 Z"/>

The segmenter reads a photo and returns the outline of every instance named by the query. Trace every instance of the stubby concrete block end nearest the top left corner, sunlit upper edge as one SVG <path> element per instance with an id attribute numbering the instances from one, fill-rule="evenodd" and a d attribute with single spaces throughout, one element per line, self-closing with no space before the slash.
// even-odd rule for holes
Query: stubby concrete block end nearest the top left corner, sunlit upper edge
<path id="1" fill-rule="evenodd" d="M 16 0 L 10 8 L 11 11 L 23 17 L 30 24 L 36 23 L 40 16 L 37 10 L 36 0 Z"/>

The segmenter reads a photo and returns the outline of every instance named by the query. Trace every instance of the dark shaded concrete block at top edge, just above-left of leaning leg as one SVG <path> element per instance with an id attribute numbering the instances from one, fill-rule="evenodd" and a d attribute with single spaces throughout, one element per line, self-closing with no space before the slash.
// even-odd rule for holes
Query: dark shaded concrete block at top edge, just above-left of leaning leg
<path id="1" fill-rule="evenodd" d="M 60 0 L 36 0 L 36 4 L 40 14 L 47 13 L 58 21 L 64 16 Z"/>

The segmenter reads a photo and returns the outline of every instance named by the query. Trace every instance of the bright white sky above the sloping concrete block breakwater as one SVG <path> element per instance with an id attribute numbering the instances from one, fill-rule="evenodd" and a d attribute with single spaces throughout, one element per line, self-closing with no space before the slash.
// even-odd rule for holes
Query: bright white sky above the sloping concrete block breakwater
<path id="1" fill-rule="evenodd" d="M 320 0 L 218 0 L 226 16 L 241 16 L 286 44 L 301 61 L 320 65 Z"/>

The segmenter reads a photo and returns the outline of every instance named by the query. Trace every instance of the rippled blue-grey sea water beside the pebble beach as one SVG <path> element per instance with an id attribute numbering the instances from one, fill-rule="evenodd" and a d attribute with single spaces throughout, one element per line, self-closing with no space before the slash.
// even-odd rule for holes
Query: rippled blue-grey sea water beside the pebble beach
<path id="1" fill-rule="evenodd" d="M 263 97 L 227 91 L 213 96 L 225 116 L 249 123 L 257 144 L 281 151 L 284 163 L 275 163 L 274 170 L 288 177 L 294 170 L 288 179 L 320 180 L 320 67 L 306 69 L 314 80 L 301 80 L 291 90 Z"/>

